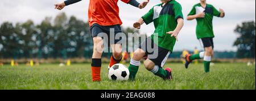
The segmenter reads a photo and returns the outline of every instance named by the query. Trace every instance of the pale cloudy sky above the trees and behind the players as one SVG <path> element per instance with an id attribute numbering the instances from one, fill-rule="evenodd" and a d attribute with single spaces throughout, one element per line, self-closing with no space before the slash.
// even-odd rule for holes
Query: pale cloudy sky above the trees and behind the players
<path id="1" fill-rule="evenodd" d="M 28 19 L 39 24 L 46 16 L 55 17 L 61 12 L 65 12 L 68 16 L 76 16 L 77 18 L 88 21 L 89 0 L 83 0 L 74 5 L 64 8 L 64 10 L 55 10 L 54 4 L 63 2 L 63 0 L 0 0 L 0 24 L 9 21 L 12 23 L 21 23 Z M 137 0 L 143 2 L 144 0 Z M 184 18 L 191 10 L 192 6 L 199 3 L 200 0 L 176 0 L 183 7 Z M 133 27 L 133 23 L 141 16 L 146 14 L 150 8 L 160 3 L 160 0 L 150 0 L 147 7 L 142 10 L 127 5 L 121 1 L 118 2 L 119 16 L 123 21 L 123 27 Z M 222 8 L 226 12 L 225 18 L 214 17 L 214 50 L 218 51 L 236 51 L 233 42 L 238 35 L 234 33 L 237 24 L 242 21 L 255 21 L 255 0 L 207 0 L 207 3 L 214 7 Z M 154 25 L 142 25 L 141 33 L 154 32 Z M 183 49 L 192 50 L 194 47 L 201 49 L 199 41 L 196 39 L 196 20 L 187 21 L 184 19 L 184 27 L 179 33 L 179 42 L 176 43 L 174 51 Z M 1 46 L 0 46 L 1 47 Z"/>

